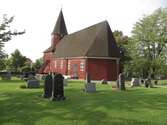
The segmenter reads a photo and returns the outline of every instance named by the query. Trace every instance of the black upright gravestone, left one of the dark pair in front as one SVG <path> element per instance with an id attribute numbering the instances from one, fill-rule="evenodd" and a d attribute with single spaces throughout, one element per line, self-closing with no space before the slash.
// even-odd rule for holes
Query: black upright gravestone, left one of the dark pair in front
<path id="1" fill-rule="evenodd" d="M 48 74 L 44 80 L 44 94 L 43 94 L 44 98 L 49 98 L 52 96 L 52 83 L 53 83 L 52 75 Z"/>

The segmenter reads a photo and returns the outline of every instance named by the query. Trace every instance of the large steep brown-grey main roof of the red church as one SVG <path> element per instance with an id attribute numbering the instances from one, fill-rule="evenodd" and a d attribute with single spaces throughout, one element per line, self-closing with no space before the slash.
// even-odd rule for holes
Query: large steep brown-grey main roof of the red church
<path id="1" fill-rule="evenodd" d="M 57 44 L 55 57 L 120 57 L 107 21 L 64 36 Z"/>

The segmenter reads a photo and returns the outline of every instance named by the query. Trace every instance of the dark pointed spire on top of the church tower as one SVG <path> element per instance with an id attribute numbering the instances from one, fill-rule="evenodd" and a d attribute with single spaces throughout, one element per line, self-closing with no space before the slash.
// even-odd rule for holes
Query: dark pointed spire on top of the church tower
<path id="1" fill-rule="evenodd" d="M 64 16 L 63 16 L 63 12 L 62 9 L 59 13 L 59 17 L 57 19 L 56 25 L 53 29 L 52 34 L 59 34 L 61 37 L 67 35 L 67 29 L 66 29 L 66 24 L 64 21 Z"/>

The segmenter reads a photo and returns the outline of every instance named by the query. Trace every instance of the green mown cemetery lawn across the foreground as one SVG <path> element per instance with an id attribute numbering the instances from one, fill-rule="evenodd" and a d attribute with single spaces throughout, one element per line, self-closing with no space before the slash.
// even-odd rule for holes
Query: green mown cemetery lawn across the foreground
<path id="1" fill-rule="evenodd" d="M 21 89 L 24 81 L 0 80 L 0 125 L 166 125 L 167 81 L 157 88 L 97 85 L 84 93 L 83 83 L 70 81 L 65 101 L 41 97 L 43 89 Z"/>

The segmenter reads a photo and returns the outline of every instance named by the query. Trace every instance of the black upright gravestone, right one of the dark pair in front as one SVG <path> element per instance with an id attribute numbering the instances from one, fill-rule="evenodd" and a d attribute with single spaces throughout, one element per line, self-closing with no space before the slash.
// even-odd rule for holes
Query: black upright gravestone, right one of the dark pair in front
<path id="1" fill-rule="evenodd" d="M 52 101 L 64 100 L 64 77 L 61 74 L 54 76 Z"/>

